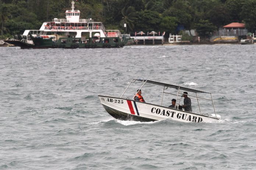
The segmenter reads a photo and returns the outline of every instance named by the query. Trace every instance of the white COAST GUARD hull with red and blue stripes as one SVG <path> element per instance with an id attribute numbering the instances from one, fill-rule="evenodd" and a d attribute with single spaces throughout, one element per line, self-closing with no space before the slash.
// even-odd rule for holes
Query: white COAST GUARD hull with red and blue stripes
<path id="1" fill-rule="evenodd" d="M 216 122 L 220 118 L 201 115 L 135 100 L 99 95 L 105 110 L 120 120 L 150 122 L 172 119 L 179 122 Z"/>

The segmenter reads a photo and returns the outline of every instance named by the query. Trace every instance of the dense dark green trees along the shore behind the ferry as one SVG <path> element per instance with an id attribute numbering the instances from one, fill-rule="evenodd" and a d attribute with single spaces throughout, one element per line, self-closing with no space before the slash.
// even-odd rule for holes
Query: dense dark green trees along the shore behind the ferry
<path id="1" fill-rule="evenodd" d="M 65 18 L 70 8 L 71 0 L 0 0 L 1 36 L 38 30 L 43 22 Z M 231 22 L 256 30 L 256 0 L 78 0 L 75 10 L 80 18 L 131 34 L 155 31 L 168 36 L 182 27 L 205 36 Z"/>

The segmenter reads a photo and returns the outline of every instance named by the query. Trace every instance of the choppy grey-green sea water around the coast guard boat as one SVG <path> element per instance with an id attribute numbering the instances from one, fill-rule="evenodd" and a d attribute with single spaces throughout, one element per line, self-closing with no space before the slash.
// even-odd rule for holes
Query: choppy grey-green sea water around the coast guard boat
<path id="1" fill-rule="evenodd" d="M 0 48 L 0 169 L 253 170 L 255 53 L 255 45 Z M 115 120 L 97 95 L 121 95 L 132 78 L 210 91 L 222 120 Z"/>

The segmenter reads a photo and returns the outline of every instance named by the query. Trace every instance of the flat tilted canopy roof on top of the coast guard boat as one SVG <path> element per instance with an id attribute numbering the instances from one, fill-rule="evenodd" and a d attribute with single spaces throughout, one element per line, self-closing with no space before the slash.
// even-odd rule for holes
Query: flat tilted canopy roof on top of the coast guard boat
<path id="1" fill-rule="evenodd" d="M 163 83 L 163 82 L 159 82 L 159 81 L 153 81 L 153 80 L 142 80 L 142 79 L 133 79 L 135 81 L 141 81 L 141 82 L 147 82 L 150 84 L 155 84 L 155 85 L 160 85 L 160 86 L 168 86 L 170 88 L 174 88 L 174 89 L 179 89 L 179 90 L 185 90 L 188 92 L 193 92 L 193 93 L 210 93 L 210 92 L 205 92 L 202 90 L 196 90 L 196 89 L 192 89 L 192 88 L 187 88 L 187 87 L 183 87 L 183 86 L 179 86 L 179 85 L 174 85 L 174 84 L 168 84 L 168 83 Z"/>

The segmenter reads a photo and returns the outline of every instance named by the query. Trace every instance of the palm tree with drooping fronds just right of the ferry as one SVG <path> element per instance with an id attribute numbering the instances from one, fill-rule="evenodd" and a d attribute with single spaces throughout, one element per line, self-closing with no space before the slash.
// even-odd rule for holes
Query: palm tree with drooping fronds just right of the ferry
<path id="1" fill-rule="evenodd" d="M 129 6 L 127 10 L 125 11 L 125 7 L 122 8 L 122 20 L 120 22 L 120 25 L 124 27 L 124 24 L 126 23 L 126 28 L 128 32 L 132 32 L 134 30 L 134 22 L 137 19 L 136 18 L 136 11 L 134 7 Z"/>

